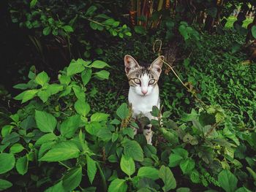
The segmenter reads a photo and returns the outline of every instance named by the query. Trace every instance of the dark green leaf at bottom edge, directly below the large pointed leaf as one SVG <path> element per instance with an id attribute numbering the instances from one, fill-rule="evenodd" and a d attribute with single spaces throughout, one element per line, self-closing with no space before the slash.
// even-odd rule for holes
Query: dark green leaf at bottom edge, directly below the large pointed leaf
<path id="1" fill-rule="evenodd" d="M 72 191 L 77 188 L 82 180 L 82 167 L 78 166 L 70 169 L 67 174 L 64 175 L 62 185 L 66 191 Z"/>

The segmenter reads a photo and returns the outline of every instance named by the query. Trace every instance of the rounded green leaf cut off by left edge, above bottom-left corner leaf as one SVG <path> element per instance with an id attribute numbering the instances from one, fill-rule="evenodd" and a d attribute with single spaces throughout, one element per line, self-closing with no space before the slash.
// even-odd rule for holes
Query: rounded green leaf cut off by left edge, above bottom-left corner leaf
<path id="1" fill-rule="evenodd" d="M 12 153 L 0 153 L 0 162 L 0 174 L 3 174 L 15 166 L 15 157 Z"/>

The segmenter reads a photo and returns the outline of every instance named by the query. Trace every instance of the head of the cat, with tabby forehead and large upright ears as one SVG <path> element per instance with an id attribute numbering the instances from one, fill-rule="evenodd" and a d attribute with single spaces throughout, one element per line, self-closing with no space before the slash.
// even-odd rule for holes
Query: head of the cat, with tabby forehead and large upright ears
<path id="1" fill-rule="evenodd" d="M 163 61 L 164 56 L 159 56 L 152 64 L 140 66 L 131 55 L 124 56 L 125 72 L 135 93 L 140 96 L 148 96 L 151 93 L 159 80 Z"/>

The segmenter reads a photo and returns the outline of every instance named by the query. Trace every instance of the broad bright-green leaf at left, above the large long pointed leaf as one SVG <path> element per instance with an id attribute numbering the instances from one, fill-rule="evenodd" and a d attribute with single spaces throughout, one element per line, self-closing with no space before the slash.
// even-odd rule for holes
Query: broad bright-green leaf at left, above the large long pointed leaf
<path id="1" fill-rule="evenodd" d="M 35 119 L 39 130 L 45 133 L 53 132 L 57 125 L 56 118 L 48 112 L 36 110 Z"/>

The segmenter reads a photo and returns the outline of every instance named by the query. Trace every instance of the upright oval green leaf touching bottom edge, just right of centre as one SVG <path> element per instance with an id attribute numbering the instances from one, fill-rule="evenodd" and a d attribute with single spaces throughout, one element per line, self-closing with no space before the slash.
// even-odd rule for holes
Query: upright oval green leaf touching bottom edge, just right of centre
<path id="1" fill-rule="evenodd" d="M 162 165 L 159 169 L 159 177 L 165 183 L 165 186 L 162 187 L 163 191 L 170 191 L 170 189 L 176 188 L 176 180 L 169 167 Z"/>

